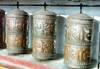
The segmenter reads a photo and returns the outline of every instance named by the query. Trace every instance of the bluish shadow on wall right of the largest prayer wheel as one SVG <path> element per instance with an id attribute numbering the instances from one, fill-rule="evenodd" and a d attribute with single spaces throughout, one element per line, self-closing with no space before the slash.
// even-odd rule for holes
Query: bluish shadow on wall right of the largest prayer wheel
<path id="1" fill-rule="evenodd" d="M 93 42 L 92 42 L 92 58 L 98 59 L 98 46 L 100 45 L 99 40 L 99 21 L 94 20 L 94 36 L 93 36 Z M 98 43 L 99 42 L 99 43 Z"/>

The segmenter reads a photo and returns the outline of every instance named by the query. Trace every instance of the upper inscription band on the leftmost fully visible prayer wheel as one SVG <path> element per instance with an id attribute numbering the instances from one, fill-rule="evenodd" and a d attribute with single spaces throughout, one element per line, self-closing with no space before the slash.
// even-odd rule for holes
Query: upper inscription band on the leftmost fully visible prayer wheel
<path id="1" fill-rule="evenodd" d="M 25 32 L 27 30 L 26 18 L 8 18 L 7 31 L 8 32 Z"/>

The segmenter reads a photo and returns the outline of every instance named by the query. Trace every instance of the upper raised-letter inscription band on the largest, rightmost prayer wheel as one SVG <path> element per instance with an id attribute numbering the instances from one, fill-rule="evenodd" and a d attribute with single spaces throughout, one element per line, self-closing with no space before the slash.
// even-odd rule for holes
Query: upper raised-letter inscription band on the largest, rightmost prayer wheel
<path id="1" fill-rule="evenodd" d="M 92 29 L 85 27 L 85 25 L 82 25 L 83 27 L 75 26 L 66 26 L 66 42 L 71 43 L 72 41 L 73 43 L 91 43 Z"/>

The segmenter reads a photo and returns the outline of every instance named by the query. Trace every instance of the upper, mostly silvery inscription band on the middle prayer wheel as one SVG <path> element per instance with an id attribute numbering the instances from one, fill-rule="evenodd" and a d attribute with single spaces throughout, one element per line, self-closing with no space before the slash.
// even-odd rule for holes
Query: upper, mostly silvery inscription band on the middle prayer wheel
<path id="1" fill-rule="evenodd" d="M 53 30 L 54 30 L 54 23 L 34 22 L 33 35 L 35 36 L 41 36 L 41 35 L 52 36 Z"/>

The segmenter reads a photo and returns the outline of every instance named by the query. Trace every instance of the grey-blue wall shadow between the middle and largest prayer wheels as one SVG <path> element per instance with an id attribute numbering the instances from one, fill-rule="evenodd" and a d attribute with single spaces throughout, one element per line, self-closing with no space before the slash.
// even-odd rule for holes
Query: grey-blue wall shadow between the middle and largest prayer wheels
<path id="1" fill-rule="evenodd" d="M 57 47 L 56 52 L 59 54 L 64 54 L 64 44 L 65 44 L 65 27 L 66 27 L 66 17 L 58 15 L 57 17 Z"/>

